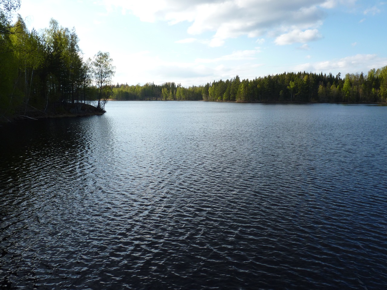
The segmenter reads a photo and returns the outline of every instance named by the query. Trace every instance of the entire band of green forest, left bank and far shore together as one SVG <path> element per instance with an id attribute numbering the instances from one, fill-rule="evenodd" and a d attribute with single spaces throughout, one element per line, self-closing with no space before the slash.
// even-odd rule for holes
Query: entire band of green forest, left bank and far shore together
<path id="1" fill-rule="evenodd" d="M 63 104 L 96 100 L 103 109 L 107 99 L 204 100 L 230 102 L 386 102 L 387 66 L 341 78 L 329 74 L 284 72 L 253 80 L 218 80 L 182 87 L 113 85 L 115 67 L 109 53 L 84 60 L 75 29 L 51 19 L 42 31 L 29 31 L 13 15 L 20 0 L 0 0 L 0 119 L 13 114 L 60 111 Z"/>

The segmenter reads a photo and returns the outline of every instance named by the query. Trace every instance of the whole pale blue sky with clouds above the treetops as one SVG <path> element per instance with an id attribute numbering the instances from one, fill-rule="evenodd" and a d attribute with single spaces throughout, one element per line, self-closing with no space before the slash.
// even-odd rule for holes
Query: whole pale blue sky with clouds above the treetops
<path id="1" fill-rule="evenodd" d="M 21 0 L 27 27 L 75 28 L 85 59 L 110 53 L 114 84 L 204 85 L 239 75 L 365 74 L 387 65 L 387 2 Z"/>

